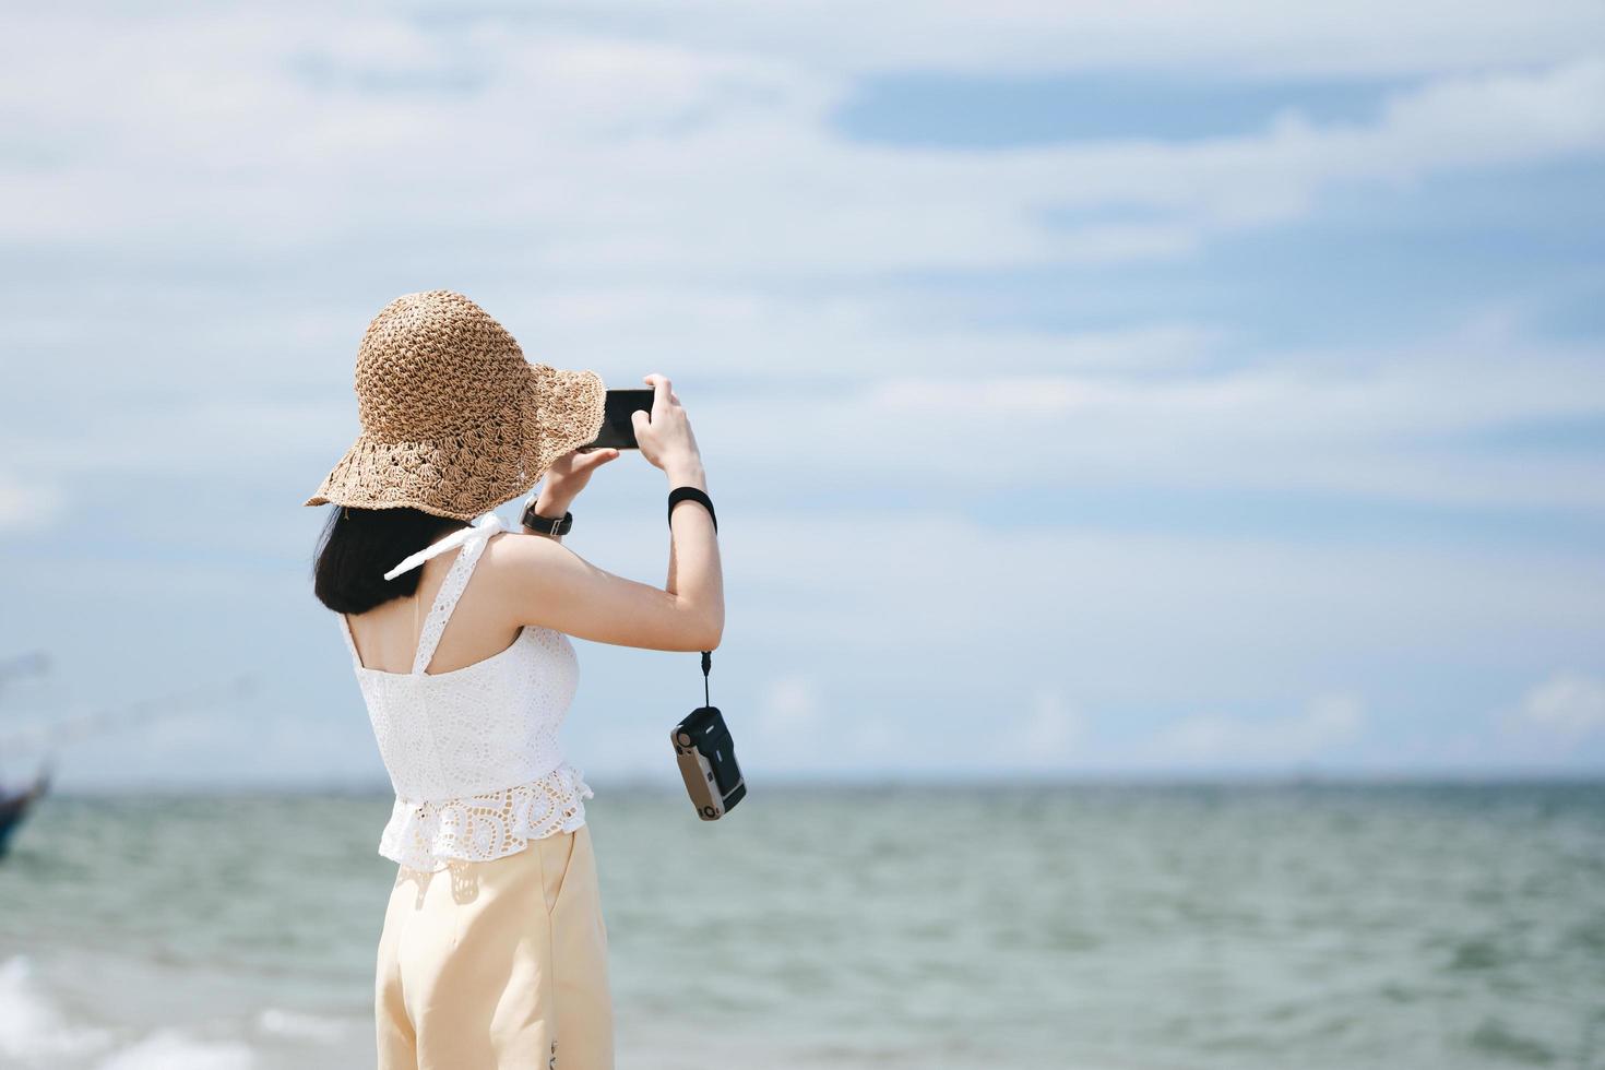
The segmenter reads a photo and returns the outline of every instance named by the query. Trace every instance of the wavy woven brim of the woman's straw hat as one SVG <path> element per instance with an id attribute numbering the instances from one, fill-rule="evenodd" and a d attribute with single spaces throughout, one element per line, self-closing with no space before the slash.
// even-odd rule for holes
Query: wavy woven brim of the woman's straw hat
<path id="1" fill-rule="evenodd" d="M 526 494 L 552 462 L 595 441 L 607 385 L 592 371 L 530 364 L 517 403 L 449 436 L 387 441 L 363 432 L 303 505 L 417 509 L 473 520 Z"/>

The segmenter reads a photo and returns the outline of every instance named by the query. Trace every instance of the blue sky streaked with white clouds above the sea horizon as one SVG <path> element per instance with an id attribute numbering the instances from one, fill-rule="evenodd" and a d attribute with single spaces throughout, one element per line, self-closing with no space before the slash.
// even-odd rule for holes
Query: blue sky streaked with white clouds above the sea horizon
<path id="1" fill-rule="evenodd" d="M 300 501 L 449 287 L 674 379 L 750 775 L 1605 770 L 1605 11 L 1111 11 L 19 14 L 10 725 L 250 674 L 61 783 L 382 784 Z M 663 489 L 568 544 L 661 582 Z M 576 645 L 571 759 L 674 783 L 697 656 Z"/>

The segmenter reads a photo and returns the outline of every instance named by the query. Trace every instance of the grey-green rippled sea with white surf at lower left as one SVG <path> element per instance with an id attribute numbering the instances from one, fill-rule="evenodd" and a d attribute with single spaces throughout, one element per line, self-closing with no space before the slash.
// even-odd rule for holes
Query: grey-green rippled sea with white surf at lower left
<path id="1" fill-rule="evenodd" d="M 621 1068 L 1605 1067 L 1605 783 L 592 786 Z M 388 809 L 48 796 L 0 1067 L 374 1065 Z"/>

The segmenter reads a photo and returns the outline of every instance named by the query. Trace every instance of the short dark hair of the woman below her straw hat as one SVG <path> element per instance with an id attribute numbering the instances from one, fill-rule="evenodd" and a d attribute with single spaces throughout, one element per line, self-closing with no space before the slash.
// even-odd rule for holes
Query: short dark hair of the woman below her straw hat
<path id="1" fill-rule="evenodd" d="M 385 573 L 409 553 L 467 526 L 462 520 L 411 507 L 335 505 L 318 537 L 313 594 L 335 613 L 366 613 L 403 598 L 417 590 L 424 569 L 409 569 L 395 579 L 385 579 Z"/>

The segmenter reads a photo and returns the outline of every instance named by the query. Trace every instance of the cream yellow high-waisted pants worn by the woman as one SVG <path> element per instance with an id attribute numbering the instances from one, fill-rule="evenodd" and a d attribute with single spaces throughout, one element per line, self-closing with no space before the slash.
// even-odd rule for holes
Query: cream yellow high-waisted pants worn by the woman
<path id="1" fill-rule="evenodd" d="M 398 868 L 374 979 L 379 1070 L 613 1070 L 591 828 Z"/>

